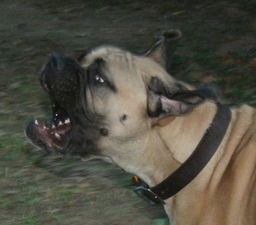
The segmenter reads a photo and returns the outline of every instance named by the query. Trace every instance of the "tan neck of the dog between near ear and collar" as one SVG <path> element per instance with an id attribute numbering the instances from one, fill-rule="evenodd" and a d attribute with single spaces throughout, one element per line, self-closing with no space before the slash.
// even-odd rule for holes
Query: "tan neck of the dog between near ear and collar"
<path id="1" fill-rule="evenodd" d="M 141 178 L 154 186 L 168 177 L 193 153 L 215 114 L 216 104 L 207 102 L 195 108 L 189 115 L 175 117 L 165 126 L 154 127 L 147 138 L 147 153 L 159 158 L 147 159 L 148 167 L 154 170 L 150 175 L 140 175 Z M 155 165 L 156 162 L 161 163 Z M 143 172 L 149 170 L 146 169 L 147 165 L 141 169 Z"/>

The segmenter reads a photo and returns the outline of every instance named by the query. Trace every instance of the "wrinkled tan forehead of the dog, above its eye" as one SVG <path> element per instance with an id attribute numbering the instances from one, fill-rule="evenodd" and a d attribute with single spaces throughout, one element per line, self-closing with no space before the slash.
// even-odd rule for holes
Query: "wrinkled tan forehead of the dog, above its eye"
<path id="1" fill-rule="evenodd" d="M 158 78 L 166 85 L 173 85 L 176 82 L 175 78 L 154 60 L 133 55 L 114 46 L 101 46 L 89 51 L 83 57 L 81 66 L 86 69 L 97 59 L 103 59 L 105 62 L 104 74 L 120 89 L 130 87 L 141 89 L 152 78 Z"/>

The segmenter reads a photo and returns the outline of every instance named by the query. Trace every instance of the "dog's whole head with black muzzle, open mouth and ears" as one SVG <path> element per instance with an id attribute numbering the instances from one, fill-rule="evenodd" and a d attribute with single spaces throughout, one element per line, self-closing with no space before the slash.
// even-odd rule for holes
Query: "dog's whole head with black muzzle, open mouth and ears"
<path id="1" fill-rule="evenodd" d="M 53 119 L 31 121 L 27 136 L 49 152 L 112 158 L 126 149 L 128 157 L 136 155 L 143 136 L 165 124 L 160 121 L 216 100 L 212 87 L 193 89 L 170 76 L 159 63 L 161 49 L 138 56 L 102 46 L 79 61 L 52 55 L 40 82 L 51 97 Z"/>

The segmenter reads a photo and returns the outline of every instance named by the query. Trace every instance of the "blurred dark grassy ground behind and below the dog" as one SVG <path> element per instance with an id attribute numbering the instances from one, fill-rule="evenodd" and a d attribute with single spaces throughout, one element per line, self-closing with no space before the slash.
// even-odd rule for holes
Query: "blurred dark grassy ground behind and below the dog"
<path id="1" fill-rule="evenodd" d="M 103 3 L 104 2 L 104 3 Z M 45 156 L 24 135 L 51 117 L 38 74 L 52 52 L 79 57 L 115 44 L 143 52 L 165 29 L 180 29 L 172 75 L 214 82 L 221 102 L 256 106 L 255 1 L 0 2 L 0 224 L 164 224 L 113 164 Z"/>

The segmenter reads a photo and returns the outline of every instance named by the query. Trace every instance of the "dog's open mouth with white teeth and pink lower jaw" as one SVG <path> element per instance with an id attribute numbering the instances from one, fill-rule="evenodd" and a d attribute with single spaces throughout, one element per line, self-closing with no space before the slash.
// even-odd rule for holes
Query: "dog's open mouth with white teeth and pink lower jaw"
<path id="1" fill-rule="evenodd" d="M 53 103 L 53 119 L 50 123 L 34 119 L 27 126 L 27 137 L 48 152 L 63 152 L 68 147 L 72 125 L 66 110 Z"/>

